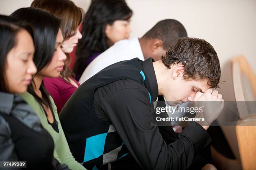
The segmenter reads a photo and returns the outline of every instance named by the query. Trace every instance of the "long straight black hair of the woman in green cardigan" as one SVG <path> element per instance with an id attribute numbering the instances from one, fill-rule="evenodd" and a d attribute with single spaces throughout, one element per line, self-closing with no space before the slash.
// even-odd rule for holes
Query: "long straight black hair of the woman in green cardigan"
<path id="1" fill-rule="evenodd" d="M 33 60 L 37 67 L 36 74 L 38 74 L 44 67 L 49 65 L 54 55 L 60 20 L 45 10 L 32 7 L 20 8 L 10 16 L 33 25 L 35 39 L 35 53 Z M 32 83 L 35 85 L 34 81 L 32 81 Z M 36 95 L 32 84 L 28 86 L 28 92 L 31 93 L 41 105 L 45 105 L 52 110 L 52 103 L 49 98 L 49 93 L 45 90 L 44 81 L 42 81 L 39 89 L 42 93 L 42 98 Z"/>

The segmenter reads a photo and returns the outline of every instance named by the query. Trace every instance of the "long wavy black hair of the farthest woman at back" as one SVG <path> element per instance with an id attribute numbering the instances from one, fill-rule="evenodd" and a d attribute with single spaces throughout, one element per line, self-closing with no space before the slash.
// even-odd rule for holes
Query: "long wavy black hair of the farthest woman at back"
<path id="1" fill-rule="evenodd" d="M 116 20 L 129 20 L 132 13 L 125 0 L 92 1 L 84 17 L 83 37 L 77 44 L 77 59 L 73 69 L 76 75 L 82 74 L 87 67 L 88 58 L 94 52 L 108 49 L 106 25 L 112 25 Z"/>

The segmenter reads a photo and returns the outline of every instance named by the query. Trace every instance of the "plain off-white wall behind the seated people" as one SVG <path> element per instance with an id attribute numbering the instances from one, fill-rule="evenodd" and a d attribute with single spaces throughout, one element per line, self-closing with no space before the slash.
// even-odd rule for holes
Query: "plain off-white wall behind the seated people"
<path id="1" fill-rule="evenodd" d="M 85 11 L 90 0 L 73 0 Z M 0 0 L 0 13 L 9 15 L 32 0 Z M 224 100 L 235 100 L 230 58 L 244 55 L 256 72 L 256 0 L 126 0 L 133 10 L 131 37 L 142 36 L 159 20 L 179 20 L 188 35 L 207 40 L 220 58 Z M 226 132 L 227 133 L 227 132 Z M 235 137 L 233 137 L 235 138 Z M 230 139 L 229 142 L 231 143 Z M 233 145 L 233 144 L 231 144 Z M 234 146 L 236 147 L 236 146 Z M 236 154 L 237 155 L 237 154 Z"/>

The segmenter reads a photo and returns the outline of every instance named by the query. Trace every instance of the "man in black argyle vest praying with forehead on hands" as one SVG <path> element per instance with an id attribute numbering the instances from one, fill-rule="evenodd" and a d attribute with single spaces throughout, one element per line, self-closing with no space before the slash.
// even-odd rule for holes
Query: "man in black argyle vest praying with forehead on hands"
<path id="1" fill-rule="evenodd" d="M 59 115 L 74 158 L 88 169 L 120 169 L 129 157 L 146 170 L 189 168 L 210 143 L 206 130 L 223 108 L 222 95 L 212 90 L 220 75 L 214 48 L 190 37 L 180 38 L 160 61 L 134 58 L 106 67 L 77 89 Z M 206 105 L 166 144 L 155 126 L 158 95 L 172 106 L 218 101 L 218 109 Z"/>

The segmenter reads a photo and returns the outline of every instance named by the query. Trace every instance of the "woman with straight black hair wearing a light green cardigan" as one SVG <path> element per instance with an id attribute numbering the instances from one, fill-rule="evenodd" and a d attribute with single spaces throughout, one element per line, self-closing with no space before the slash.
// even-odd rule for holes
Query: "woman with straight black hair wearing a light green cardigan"
<path id="1" fill-rule="evenodd" d="M 20 8 L 12 17 L 33 25 L 35 39 L 34 62 L 37 67 L 28 92 L 21 97 L 40 118 L 41 124 L 54 140 L 54 158 L 69 169 L 84 169 L 72 156 L 51 96 L 44 88 L 44 77 L 59 77 L 66 55 L 61 49 L 63 36 L 60 21 L 51 13 L 36 8 Z"/>

